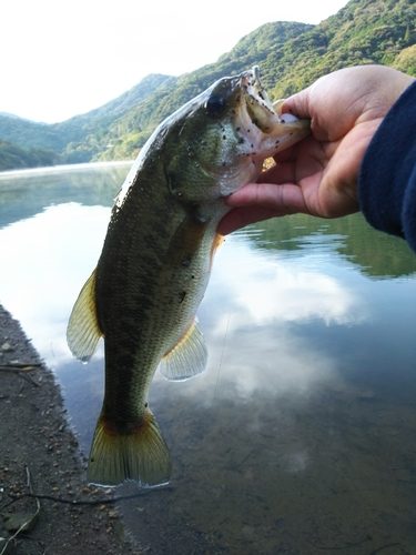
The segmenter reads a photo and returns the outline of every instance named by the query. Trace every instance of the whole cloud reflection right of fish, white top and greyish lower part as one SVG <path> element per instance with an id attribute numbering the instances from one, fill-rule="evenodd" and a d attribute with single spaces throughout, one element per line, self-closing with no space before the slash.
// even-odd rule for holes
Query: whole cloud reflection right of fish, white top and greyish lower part
<path id="1" fill-rule="evenodd" d="M 332 264 L 319 271 L 314 256 L 260 252 L 246 239 L 230 238 L 199 311 L 207 371 L 174 394 L 197 395 L 209 406 L 223 398 L 307 395 L 323 381 L 337 380 L 338 361 L 316 349 L 303 327 L 352 326 L 368 317 L 368 309 L 333 275 Z"/>

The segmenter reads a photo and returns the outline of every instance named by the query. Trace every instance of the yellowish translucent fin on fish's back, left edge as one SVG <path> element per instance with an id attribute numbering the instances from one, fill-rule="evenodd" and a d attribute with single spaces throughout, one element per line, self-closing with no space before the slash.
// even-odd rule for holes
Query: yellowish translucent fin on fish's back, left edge
<path id="1" fill-rule="evenodd" d="M 73 305 L 67 329 L 68 345 L 74 356 L 89 362 L 102 336 L 95 313 L 95 270 Z"/>

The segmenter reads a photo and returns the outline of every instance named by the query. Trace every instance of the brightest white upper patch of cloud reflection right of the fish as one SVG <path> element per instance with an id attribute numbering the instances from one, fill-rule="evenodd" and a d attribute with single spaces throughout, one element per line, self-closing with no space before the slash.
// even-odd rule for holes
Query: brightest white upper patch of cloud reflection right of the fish
<path id="1" fill-rule="evenodd" d="M 222 282 L 232 285 L 239 320 L 257 325 L 322 320 L 331 325 L 356 323 L 363 317 L 363 301 L 345 283 L 318 270 L 313 256 L 287 259 L 282 252 L 265 255 L 242 244 L 221 262 Z M 236 265 L 242 279 L 235 275 Z"/>

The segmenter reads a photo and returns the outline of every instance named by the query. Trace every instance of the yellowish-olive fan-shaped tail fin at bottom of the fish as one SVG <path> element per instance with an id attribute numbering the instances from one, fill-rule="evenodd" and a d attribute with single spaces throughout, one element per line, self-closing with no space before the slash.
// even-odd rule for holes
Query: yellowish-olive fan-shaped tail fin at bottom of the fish
<path id="1" fill-rule="evenodd" d="M 143 487 L 168 484 L 171 458 L 153 414 L 129 434 L 118 434 L 103 415 L 97 423 L 87 478 L 92 484 L 118 485 L 135 480 Z"/>

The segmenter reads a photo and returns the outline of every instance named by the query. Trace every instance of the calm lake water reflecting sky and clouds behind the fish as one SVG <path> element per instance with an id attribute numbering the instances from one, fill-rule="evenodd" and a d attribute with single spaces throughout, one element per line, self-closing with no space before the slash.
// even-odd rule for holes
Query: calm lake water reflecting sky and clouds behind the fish
<path id="1" fill-rule="evenodd" d="M 103 350 L 65 344 L 130 164 L 0 174 L 0 302 L 61 383 L 88 454 Z M 416 554 L 416 256 L 359 214 L 252 225 L 199 310 L 209 366 L 156 375 L 170 486 L 123 502 L 155 554 Z M 132 493 L 129 483 L 119 493 Z"/>

